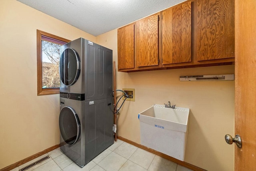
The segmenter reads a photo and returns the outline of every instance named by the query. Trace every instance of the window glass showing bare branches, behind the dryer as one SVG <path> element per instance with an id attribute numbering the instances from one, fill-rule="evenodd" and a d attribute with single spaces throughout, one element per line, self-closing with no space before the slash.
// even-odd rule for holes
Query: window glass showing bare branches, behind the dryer
<path id="1" fill-rule="evenodd" d="M 60 44 L 42 40 L 42 88 L 60 87 Z"/>

